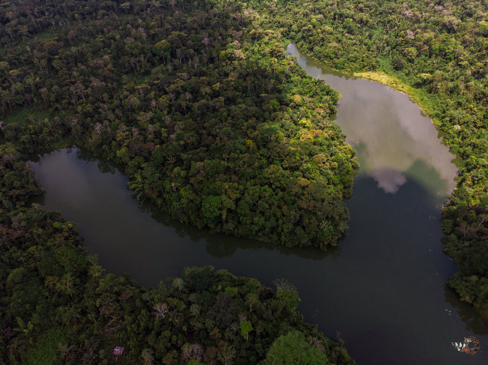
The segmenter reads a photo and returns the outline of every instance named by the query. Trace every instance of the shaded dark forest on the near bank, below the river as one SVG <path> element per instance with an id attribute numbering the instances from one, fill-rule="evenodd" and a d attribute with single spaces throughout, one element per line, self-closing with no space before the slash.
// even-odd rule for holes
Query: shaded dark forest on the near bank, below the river
<path id="1" fill-rule="evenodd" d="M 30 182 L 24 179 L 25 189 Z M 16 208 L 0 220 L 2 364 L 354 364 L 277 292 L 212 267 L 154 288 L 104 274 L 59 213 Z"/>

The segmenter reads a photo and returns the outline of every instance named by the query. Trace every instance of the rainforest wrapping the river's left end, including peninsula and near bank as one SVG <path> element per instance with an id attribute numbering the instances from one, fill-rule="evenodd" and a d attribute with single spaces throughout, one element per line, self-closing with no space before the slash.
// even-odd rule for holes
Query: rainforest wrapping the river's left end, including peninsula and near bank
<path id="1" fill-rule="evenodd" d="M 104 274 L 76 225 L 27 206 L 25 160 L 77 144 L 184 223 L 288 247 L 335 245 L 354 151 L 339 94 L 257 13 L 215 1 L 0 4 L 0 362 L 353 364 L 296 289 L 211 267 L 156 288 Z"/>

